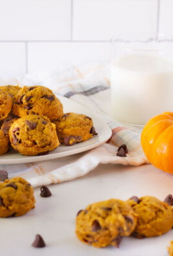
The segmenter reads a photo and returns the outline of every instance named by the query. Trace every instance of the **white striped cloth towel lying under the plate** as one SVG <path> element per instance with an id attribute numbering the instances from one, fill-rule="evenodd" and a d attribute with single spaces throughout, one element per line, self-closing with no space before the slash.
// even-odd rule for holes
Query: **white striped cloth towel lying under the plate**
<path id="1" fill-rule="evenodd" d="M 0 85 L 43 85 L 102 115 L 112 129 L 110 140 L 97 148 L 50 161 L 19 165 L 1 165 L 10 178 L 21 176 L 34 187 L 72 180 L 94 170 L 99 163 L 141 165 L 148 163 L 140 143 L 140 130 L 122 126 L 110 114 L 110 80 L 107 64 L 59 67 L 18 78 L 0 78 Z M 119 145 L 126 144 L 127 157 L 116 156 Z"/>

